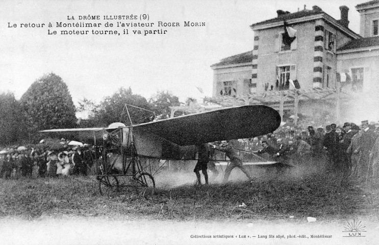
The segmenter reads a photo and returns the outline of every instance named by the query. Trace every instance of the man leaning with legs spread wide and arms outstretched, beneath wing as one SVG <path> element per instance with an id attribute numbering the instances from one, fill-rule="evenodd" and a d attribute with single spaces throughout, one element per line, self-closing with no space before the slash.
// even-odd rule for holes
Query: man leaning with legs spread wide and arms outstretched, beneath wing
<path id="1" fill-rule="evenodd" d="M 240 168 L 241 171 L 247 176 L 247 178 L 249 178 L 249 180 L 252 181 L 252 178 L 251 178 L 249 172 L 247 171 L 245 166 L 243 166 L 241 158 L 238 156 L 237 151 L 233 148 L 233 145 L 230 142 L 223 140 L 223 141 L 221 141 L 220 146 L 213 145 L 213 144 L 211 144 L 211 145 L 214 149 L 225 152 L 226 156 L 229 157 L 229 159 L 231 161 L 230 164 L 225 169 L 224 179 L 222 180 L 223 183 L 228 181 L 229 176 L 230 176 L 233 168 L 235 168 L 235 167 Z"/>

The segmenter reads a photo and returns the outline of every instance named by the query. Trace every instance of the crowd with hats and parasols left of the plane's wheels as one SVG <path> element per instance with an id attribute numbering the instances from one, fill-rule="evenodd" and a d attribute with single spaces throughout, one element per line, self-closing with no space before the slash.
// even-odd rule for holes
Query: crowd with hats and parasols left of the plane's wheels
<path id="1" fill-rule="evenodd" d="M 0 178 L 87 175 L 96 159 L 96 148 L 69 142 L 61 139 L 57 147 L 41 140 L 37 145 L 1 150 Z"/>

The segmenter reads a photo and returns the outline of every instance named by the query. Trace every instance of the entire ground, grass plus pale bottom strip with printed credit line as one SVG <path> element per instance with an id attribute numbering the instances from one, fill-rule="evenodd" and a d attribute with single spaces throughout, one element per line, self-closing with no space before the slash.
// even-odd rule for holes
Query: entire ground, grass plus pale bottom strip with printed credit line
<path id="1" fill-rule="evenodd" d="M 296 167 L 156 176 L 154 195 L 100 195 L 95 177 L 0 179 L 2 244 L 378 244 L 379 185 Z M 308 222 L 308 218 L 316 218 Z M 270 236 L 272 235 L 272 237 Z M 232 237 L 233 236 L 233 237 Z"/>

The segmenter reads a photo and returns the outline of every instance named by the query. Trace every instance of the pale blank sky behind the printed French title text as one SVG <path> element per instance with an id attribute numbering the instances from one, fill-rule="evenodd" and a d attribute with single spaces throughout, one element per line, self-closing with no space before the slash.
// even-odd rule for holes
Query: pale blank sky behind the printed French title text
<path id="1" fill-rule="evenodd" d="M 0 92 L 16 99 L 45 74 L 54 72 L 67 84 L 75 105 L 84 97 L 99 102 L 120 87 L 147 99 L 167 90 L 184 102 L 187 97 L 212 96 L 211 65 L 220 59 L 252 50 L 250 24 L 276 17 L 276 10 L 295 12 L 317 5 L 339 19 L 339 6 L 349 10 L 349 28 L 359 33 L 355 6 L 367 1 L 8 1 L 0 4 Z M 148 15 L 148 20 L 104 20 L 104 15 Z M 100 16 L 83 20 L 80 16 Z M 68 19 L 67 16 L 70 16 Z M 158 21 L 179 27 L 157 27 Z M 184 21 L 205 27 L 184 27 Z M 47 24 L 51 22 L 53 27 Z M 102 28 L 57 28 L 56 23 L 102 23 Z M 105 28 L 106 22 L 113 27 Z M 154 23 L 153 27 L 116 27 L 122 23 Z M 20 27 L 44 23 L 43 28 Z M 17 27 L 13 27 L 16 24 Z M 91 30 L 120 35 L 93 35 Z M 129 34 L 122 34 L 128 29 Z M 62 30 L 89 30 L 87 35 L 61 35 Z M 140 30 L 142 34 L 133 34 Z M 144 30 L 166 34 L 144 35 Z M 57 31 L 56 35 L 49 35 Z M 204 93 L 196 88 L 201 88 Z"/>

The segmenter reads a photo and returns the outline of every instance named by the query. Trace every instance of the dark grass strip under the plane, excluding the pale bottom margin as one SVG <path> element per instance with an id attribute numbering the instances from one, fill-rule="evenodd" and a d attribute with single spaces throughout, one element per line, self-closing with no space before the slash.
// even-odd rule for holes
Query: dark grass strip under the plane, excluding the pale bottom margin
<path id="1" fill-rule="evenodd" d="M 0 179 L 0 217 L 303 222 L 312 216 L 328 223 L 364 216 L 379 220 L 377 183 L 357 186 L 323 171 L 260 174 L 252 184 L 237 177 L 228 184 L 194 187 L 193 173 L 162 173 L 157 181 L 155 195 L 145 199 L 134 188 L 102 196 L 95 177 Z M 242 203 L 246 207 L 239 207 Z"/>

